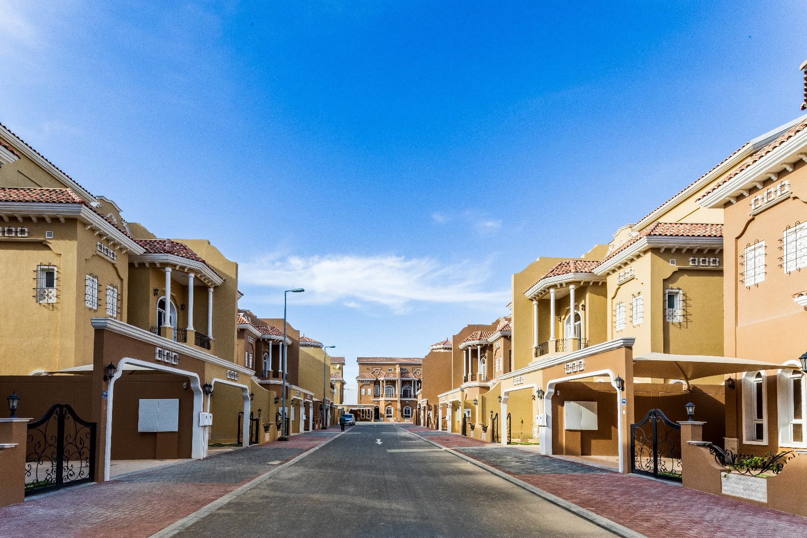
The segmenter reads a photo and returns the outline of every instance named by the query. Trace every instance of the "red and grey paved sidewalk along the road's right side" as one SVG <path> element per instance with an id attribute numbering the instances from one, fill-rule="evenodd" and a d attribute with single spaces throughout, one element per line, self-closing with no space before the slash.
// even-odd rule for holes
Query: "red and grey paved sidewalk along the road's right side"
<path id="1" fill-rule="evenodd" d="M 645 536 L 807 536 L 807 518 L 798 515 L 445 431 L 402 428 Z"/>

